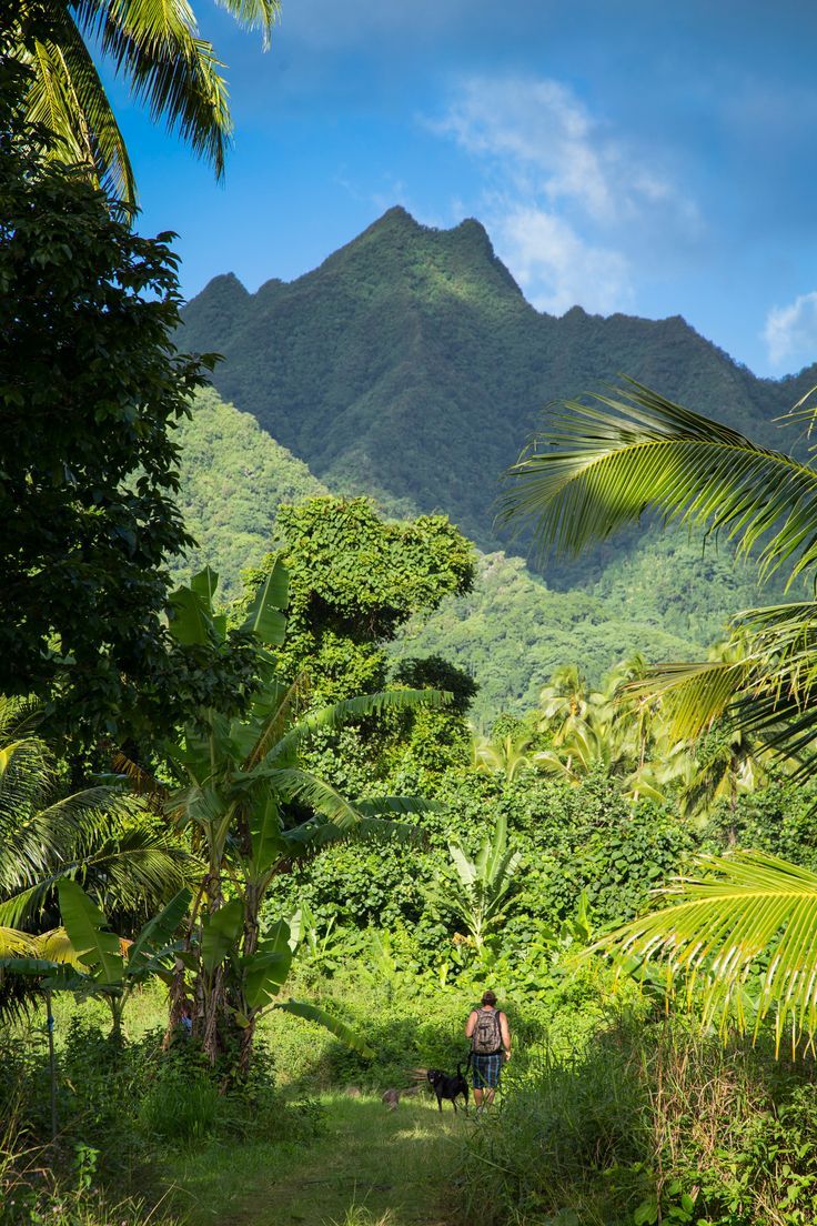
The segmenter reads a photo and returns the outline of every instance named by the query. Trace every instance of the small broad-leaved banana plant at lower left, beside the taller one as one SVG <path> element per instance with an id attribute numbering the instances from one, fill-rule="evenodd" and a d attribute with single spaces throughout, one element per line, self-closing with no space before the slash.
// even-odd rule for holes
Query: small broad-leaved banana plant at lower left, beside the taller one
<path id="1" fill-rule="evenodd" d="M 58 894 L 62 929 L 42 937 L 17 933 L 16 954 L 0 959 L 0 971 L 34 978 L 45 992 L 102 998 L 110 1009 L 111 1034 L 120 1037 L 134 991 L 153 977 L 170 980 L 180 948 L 175 934 L 191 891 L 179 890 L 132 942 L 108 929 L 105 916 L 76 881 L 62 878 Z"/>

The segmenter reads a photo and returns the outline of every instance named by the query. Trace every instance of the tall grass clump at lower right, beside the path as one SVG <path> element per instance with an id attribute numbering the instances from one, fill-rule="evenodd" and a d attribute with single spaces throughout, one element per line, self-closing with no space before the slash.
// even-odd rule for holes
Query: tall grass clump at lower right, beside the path
<path id="1" fill-rule="evenodd" d="M 511 1072 L 511 1069 L 508 1069 Z M 464 1141 L 473 1226 L 817 1222 L 813 1062 L 622 1019 L 532 1057 Z"/>

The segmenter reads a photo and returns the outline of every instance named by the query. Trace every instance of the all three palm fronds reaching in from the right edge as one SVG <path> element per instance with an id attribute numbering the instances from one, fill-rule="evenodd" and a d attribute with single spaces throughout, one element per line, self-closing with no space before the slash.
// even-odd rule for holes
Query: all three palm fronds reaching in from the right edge
<path id="1" fill-rule="evenodd" d="M 790 414 L 811 423 L 802 402 Z M 548 450 L 545 450 L 548 447 Z M 720 532 L 761 574 L 789 582 L 817 563 L 817 471 L 628 381 L 589 402 L 570 401 L 552 429 L 511 470 L 506 514 L 527 519 L 540 548 L 578 552 L 654 508 Z M 675 734 L 698 737 L 728 715 L 741 737 L 797 763 L 817 761 L 817 602 L 750 609 L 735 619 L 740 650 L 650 669 L 638 690 L 661 698 Z M 676 883 L 669 905 L 603 943 L 704 988 L 704 1011 L 745 1024 L 744 993 L 758 960 L 757 1019 L 774 1009 L 778 1041 L 817 1031 L 817 878 L 757 852 L 704 861 Z"/>

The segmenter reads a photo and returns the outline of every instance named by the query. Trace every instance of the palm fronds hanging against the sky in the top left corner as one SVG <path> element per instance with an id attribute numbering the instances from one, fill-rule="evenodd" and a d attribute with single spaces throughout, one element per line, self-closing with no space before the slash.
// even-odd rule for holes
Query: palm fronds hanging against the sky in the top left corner
<path id="1" fill-rule="evenodd" d="M 279 0 L 219 0 L 265 45 Z M 152 119 L 164 119 L 192 150 L 224 170 L 233 130 L 227 82 L 212 43 L 186 0 L 22 0 L 18 56 L 32 71 L 27 109 L 59 140 L 54 156 L 87 166 L 125 204 L 134 170 L 93 53 L 113 65 Z M 92 53 L 93 49 L 93 53 Z"/>

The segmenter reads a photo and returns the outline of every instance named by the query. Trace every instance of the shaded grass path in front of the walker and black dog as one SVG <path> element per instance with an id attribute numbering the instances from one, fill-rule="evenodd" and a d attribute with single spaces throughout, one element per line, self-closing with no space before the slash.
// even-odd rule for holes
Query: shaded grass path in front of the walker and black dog
<path id="1" fill-rule="evenodd" d="M 325 1096 L 322 1134 L 309 1144 L 213 1143 L 179 1154 L 179 1210 L 218 1226 L 453 1226 L 447 1177 L 472 1127 L 448 1108 Z M 352 1213 L 358 1210 L 358 1213 Z"/>

